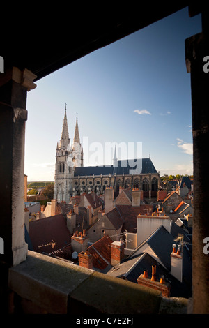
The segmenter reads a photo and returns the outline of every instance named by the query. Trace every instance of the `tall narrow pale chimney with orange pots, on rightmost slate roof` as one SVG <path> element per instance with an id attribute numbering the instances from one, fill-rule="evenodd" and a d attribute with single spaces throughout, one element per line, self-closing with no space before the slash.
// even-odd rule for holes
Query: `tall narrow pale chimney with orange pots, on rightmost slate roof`
<path id="1" fill-rule="evenodd" d="M 173 251 L 171 253 L 171 274 L 181 283 L 183 280 L 183 253 L 180 251 L 180 245 L 176 252 L 176 245 L 173 244 Z"/>

